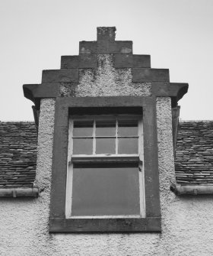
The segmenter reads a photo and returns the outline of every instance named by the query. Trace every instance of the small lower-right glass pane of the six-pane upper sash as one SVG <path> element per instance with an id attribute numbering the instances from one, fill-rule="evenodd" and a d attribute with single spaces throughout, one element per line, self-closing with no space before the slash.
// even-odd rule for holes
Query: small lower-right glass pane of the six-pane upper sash
<path id="1" fill-rule="evenodd" d="M 138 154 L 138 138 L 119 138 L 118 154 Z"/>

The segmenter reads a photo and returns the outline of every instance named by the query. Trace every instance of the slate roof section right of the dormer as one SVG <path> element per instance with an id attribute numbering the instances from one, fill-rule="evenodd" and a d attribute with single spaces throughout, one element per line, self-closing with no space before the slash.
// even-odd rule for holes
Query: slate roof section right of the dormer
<path id="1" fill-rule="evenodd" d="M 175 170 L 177 183 L 213 185 L 213 121 L 180 122 Z"/>

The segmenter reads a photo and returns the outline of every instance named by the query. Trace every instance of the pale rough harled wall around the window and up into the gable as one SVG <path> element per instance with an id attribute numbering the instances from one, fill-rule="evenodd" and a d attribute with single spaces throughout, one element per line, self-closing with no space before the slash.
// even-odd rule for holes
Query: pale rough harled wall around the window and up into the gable
<path id="1" fill-rule="evenodd" d="M 101 56 L 100 59 L 104 56 Z M 80 84 L 62 86 L 62 96 L 150 96 L 151 85 L 137 88 L 129 69 L 122 76 L 113 70 L 111 57 L 101 61 L 97 73 L 84 70 Z M 110 83 L 109 83 L 110 76 Z M 105 77 L 105 78 L 104 78 Z M 107 79 L 108 77 L 108 79 Z M 102 86 L 100 86 L 102 83 Z M 106 86 L 110 88 L 107 89 Z M 104 87 L 104 88 L 103 88 Z M 91 90 L 92 88 L 92 90 Z M 38 138 L 37 199 L 1 199 L 0 255 L 211 255 L 213 254 L 213 204 L 211 197 L 177 197 L 174 182 L 170 98 L 157 98 L 157 134 L 161 190 L 162 233 L 49 234 L 49 199 L 55 100 L 42 99 Z"/>

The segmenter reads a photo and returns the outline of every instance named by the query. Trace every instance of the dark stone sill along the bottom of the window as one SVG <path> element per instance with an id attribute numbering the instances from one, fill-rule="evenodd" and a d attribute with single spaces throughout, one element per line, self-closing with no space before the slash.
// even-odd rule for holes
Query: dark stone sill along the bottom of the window
<path id="1" fill-rule="evenodd" d="M 50 218 L 49 232 L 161 232 L 161 217 L 123 219 Z"/>

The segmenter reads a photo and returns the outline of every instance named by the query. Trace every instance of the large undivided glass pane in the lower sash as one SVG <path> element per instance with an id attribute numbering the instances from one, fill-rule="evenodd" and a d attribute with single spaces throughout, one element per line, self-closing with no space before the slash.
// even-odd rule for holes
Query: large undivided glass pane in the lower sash
<path id="1" fill-rule="evenodd" d="M 139 215 L 139 202 L 137 166 L 74 167 L 72 215 Z"/>

